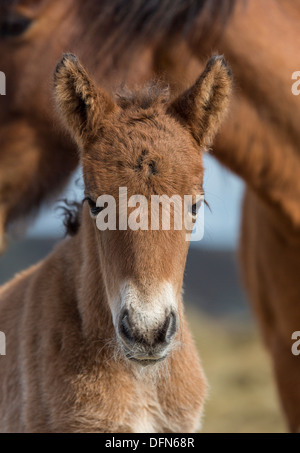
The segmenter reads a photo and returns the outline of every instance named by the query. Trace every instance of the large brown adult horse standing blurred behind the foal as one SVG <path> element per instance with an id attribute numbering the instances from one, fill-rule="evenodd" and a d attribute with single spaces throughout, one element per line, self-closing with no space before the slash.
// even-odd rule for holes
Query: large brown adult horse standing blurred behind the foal
<path id="1" fill-rule="evenodd" d="M 22 12 L 23 2 L 19 3 L 17 9 Z M 62 134 L 54 133 L 51 127 L 53 111 L 49 109 L 47 78 L 50 65 L 59 53 L 74 48 L 88 66 L 95 67 L 97 77 L 104 79 L 108 87 L 116 79 L 112 59 L 107 59 L 106 55 L 101 60 L 101 52 L 98 53 L 98 61 L 94 59 L 95 44 L 98 45 L 99 40 L 90 37 L 98 36 L 100 39 L 101 27 L 91 27 L 94 35 L 85 33 L 87 37 L 82 40 L 82 30 L 85 29 L 83 21 L 87 20 L 89 11 L 82 14 L 83 21 L 80 22 L 76 15 L 78 11 L 72 9 L 70 0 L 36 3 L 41 4 L 40 9 L 35 8 L 31 12 L 29 7 L 30 14 L 36 14 L 37 17 L 37 20 L 33 20 L 33 26 L 21 37 L 8 39 L 1 44 L 1 70 L 9 75 L 13 73 L 14 67 L 27 68 L 23 79 L 20 81 L 20 78 L 16 78 L 10 85 L 13 93 L 9 94 L 8 86 L 10 97 L 6 99 L 9 99 L 10 105 L 5 104 L 4 97 L 1 98 L 4 102 L 1 110 L 4 132 L 1 132 L 0 147 L 3 163 L 0 169 L 0 172 L 3 169 L 0 179 L 2 225 L 7 225 L 9 220 L 38 205 L 65 181 L 77 162 L 72 145 Z M 172 18 L 172 11 L 178 8 L 180 2 L 176 0 L 172 5 L 167 1 L 160 3 L 165 5 L 165 11 L 169 13 L 165 17 Z M 67 14 L 68 8 L 70 11 Z M 290 428 L 298 430 L 299 360 L 291 353 L 291 335 L 299 330 L 300 325 L 300 108 L 299 98 L 291 92 L 291 76 L 299 69 L 295 56 L 300 44 L 300 5 L 298 0 L 251 0 L 246 5 L 236 2 L 235 11 L 226 26 L 222 28 L 218 22 L 210 23 L 209 30 L 206 29 L 201 38 L 198 30 L 202 30 L 206 22 L 201 22 L 200 12 L 201 9 L 196 8 L 195 13 L 190 14 L 192 19 L 187 26 L 190 32 L 184 40 L 180 33 L 176 33 L 176 24 L 180 23 L 176 15 L 175 26 L 172 28 L 168 23 L 163 33 L 162 28 L 166 25 L 164 18 L 153 14 L 153 23 L 156 21 L 159 25 L 157 34 L 153 32 L 157 31 L 154 26 L 151 30 L 156 41 L 144 47 L 141 45 L 140 53 L 136 54 L 132 64 L 122 66 L 120 63 L 118 76 L 122 79 L 127 74 L 129 80 L 142 81 L 153 71 L 165 72 L 168 80 L 180 85 L 183 78 L 194 77 L 199 62 L 211 48 L 217 47 L 229 59 L 236 77 L 237 94 L 214 154 L 247 183 L 241 239 L 244 280 L 273 358 Z M 25 11 L 24 14 L 29 13 Z M 151 16 L 151 13 L 148 15 Z M 120 17 L 114 29 L 116 34 L 110 36 L 105 32 L 111 38 L 111 48 L 116 47 L 117 41 L 128 42 L 125 39 L 127 28 L 134 42 L 139 42 L 141 17 L 134 13 L 130 16 L 130 23 L 135 23 L 135 28 L 127 27 L 126 16 Z M 198 26 L 199 20 L 202 27 Z M 44 26 L 46 22 L 53 24 L 52 29 Z M 122 40 L 116 39 L 119 37 L 118 27 L 122 30 Z M 143 40 L 141 42 L 146 43 Z M 109 47 L 107 43 L 105 45 Z M 32 49 L 35 49 L 34 52 Z M 190 52 L 195 59 L 190 59 L 188 63 L 183 55 Z M 124 55 L 126 59 L 125 51 Z M 37 59 L 43 64 L 36 65 Z M 28 80 L 32 81 L 31 84 Z M 39 86 L 40 83 L 42 85 Z M 36 97 L 33 96 L 34 92 Z M 18 109 L 15 109 L 15 104 L 19 106 Z M 11 115 L 7 115 L 10 108 Z M 20 123 L 16 124 L 16 118 Z M 34 118 L 34 121 L 29 130 L 30 118 Z M 6 180 L 8 174 L 11 176 Z M 26 196 L 23 196 L 24 193 Z"/>

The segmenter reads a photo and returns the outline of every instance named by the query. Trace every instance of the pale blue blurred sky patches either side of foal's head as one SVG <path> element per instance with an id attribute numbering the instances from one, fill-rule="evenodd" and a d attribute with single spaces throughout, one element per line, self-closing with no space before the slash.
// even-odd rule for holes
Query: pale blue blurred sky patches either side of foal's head
<path id="1" fill-rule="evenodd" d="M 243 183 L 212 157 L 205 156 L 205 196 L 211 212 L 205 210 L 205 232 L 200 242 L 193 247 L 235 248 L 238 239 Z M 81 200 L 83 198 L 80 171 L 72 178 L 69 186 L 59 198 Z M 29 228 L 31 237 L 51 237 L 63 235 L 61 213 L 57 204 L 44 208 Z"/>

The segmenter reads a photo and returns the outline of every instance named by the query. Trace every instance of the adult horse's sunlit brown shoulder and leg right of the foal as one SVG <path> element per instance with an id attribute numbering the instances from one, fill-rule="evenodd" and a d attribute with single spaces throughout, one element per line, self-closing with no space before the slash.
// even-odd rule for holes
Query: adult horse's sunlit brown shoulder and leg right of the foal
<path id="1" fill-rule="evenodd" d="M 299 20 L 299 1 L 251 1 L 246 13 L 237 8 L 221 50 L 240 92 L 215 151 L 247 183 L 243 280 L 292 431 L 300 429 L 300 362 L 291 351 L 300 326 L 300 102 L 292 94 Z"/>

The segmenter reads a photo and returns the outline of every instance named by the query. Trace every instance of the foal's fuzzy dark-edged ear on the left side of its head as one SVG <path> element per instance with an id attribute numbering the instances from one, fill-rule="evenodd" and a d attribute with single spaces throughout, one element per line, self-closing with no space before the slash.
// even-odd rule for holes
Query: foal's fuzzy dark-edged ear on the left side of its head
<path id="1" fill-rule="evenodd" d="M 63 55 L 54 73 L 55 98 L 67 128 L 79 144 L 92 140 L 99 120 L 115 109 L 110 96 L 100 90 L 72 54 Z"/>

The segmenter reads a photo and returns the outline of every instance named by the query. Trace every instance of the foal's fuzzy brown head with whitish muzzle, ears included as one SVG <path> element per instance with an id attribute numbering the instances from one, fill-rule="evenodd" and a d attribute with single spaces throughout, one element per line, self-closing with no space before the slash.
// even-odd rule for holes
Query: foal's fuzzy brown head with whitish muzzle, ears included
<path id="1" fill-rule="evenodd" d="M 169 229 L 161 221 L 151 229 L 151 196 L 192 196 L 183 215 L 193 221 L 203 194 L 201 153 L 217 132 L 230 91 L 222 57 L 211 58 L 196 83 L 172 101 L 156 85 L 113 100 L 73 55 L 65 55 L 55 72 L 56 101 L 81 154 L 87 197 L 82 228 L 93 232 L 118 343 L 141 365 L 163 360 L 176 343 L 188 251 L 185 226 L 176 229 L 172 222 L 176 208 Z M 124 213 L 120 187 L 128 199 L 144 196 L 138 215 L 130 203 Z M 115 228 L 105 231 L 97 228 L 102 195 L 113 197 L 116 208 Z M 146 216 L 147 225 L 143 217 L 142 228 L 124 227 L 124 216 L 129 224 L 132 215 L 138 221 Z"/>

